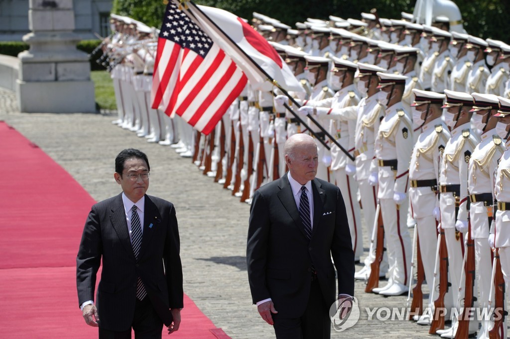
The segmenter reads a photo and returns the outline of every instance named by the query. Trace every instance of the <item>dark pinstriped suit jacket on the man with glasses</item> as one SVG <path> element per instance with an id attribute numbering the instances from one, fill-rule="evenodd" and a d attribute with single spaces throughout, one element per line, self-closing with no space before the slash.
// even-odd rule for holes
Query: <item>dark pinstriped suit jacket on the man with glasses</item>
<path id="1" fill-rule="evenodd" d="M 159 317 L 170 325 L 169 308 L 183 307 L 183 273 L 179 230 L 173 205 L 145 195 L 142 244 L 135 259 L 127 230 L 122 193 L 92 206 L 77 257 L 79 304 L 94 300 L 96 273 L 103 259 L 97 288 L 99 326 L 114 331 L 131 327 L 137 279 Z"/>

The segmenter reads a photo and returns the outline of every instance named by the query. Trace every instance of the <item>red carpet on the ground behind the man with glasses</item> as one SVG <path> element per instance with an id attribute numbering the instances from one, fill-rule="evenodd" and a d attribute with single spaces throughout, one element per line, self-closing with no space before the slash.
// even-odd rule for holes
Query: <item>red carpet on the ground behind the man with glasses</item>
<path id="1" fill-rule="evenodd" d="M 91 338 L 78 307 L 76 254 L 92 197 L 60 165 L 0 121 L 0 338 Z M 71 199 L 72 198 L 72 199 Z M 99 280 L 99 279 L 98 279 Z M 228 338 L 186 295 L 168 338 Z"/>

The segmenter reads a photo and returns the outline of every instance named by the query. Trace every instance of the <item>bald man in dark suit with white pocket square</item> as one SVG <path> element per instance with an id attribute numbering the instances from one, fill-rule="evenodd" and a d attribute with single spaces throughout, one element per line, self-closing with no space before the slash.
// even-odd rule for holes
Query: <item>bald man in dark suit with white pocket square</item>
<path id="1" fill-rule="evenodd" d="M 337 299 L 351 306 L 354 295 L 345 205 L 337 186 L 315 178 L 318 155 L 311 136 L 293 135 L 284 154 L 289 172 L 262 186 L 251 202 L 246 249 L 251 296 L 277 338 L 329 338 L 330 306 Z"/>

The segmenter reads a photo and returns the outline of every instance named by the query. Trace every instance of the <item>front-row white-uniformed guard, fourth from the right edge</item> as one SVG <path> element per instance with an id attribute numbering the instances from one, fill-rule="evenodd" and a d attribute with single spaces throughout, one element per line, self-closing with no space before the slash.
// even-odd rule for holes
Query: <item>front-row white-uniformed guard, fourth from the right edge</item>
<path id="1" fill-rule="evenodd" d="M 431 255 L 437 251 L 437 221 L 433 211 L 438 201 L 441 157 L 450 133 L 441 119 L 445 95 L 417 89 L 412 92 L 413 128 L 419 135 L 409 164 L 409 197 L 413 218 L 416 220 L 415 232 L 418 232 L 417 246 L 421 253 L 426 253 L 421 256 L 421 261 L 428 290 L 437 291 L 439 279 L 433 278 L 435 256 Z M 436 286 L 433 286 L 434 283 Z M 420 325 L 430 325 L 433 302 L 432 293 L 429 293 L 428 312 L 415 317 Z"/>

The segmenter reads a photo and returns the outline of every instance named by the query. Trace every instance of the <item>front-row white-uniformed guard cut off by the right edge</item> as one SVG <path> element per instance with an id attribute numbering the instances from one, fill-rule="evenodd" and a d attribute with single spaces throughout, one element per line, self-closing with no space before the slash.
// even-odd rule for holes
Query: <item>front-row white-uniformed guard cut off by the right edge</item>
<path id="1" fill-rule="evenodd" d="M 495 289 L 503 289 L 503 316 L 502 326 L 496 331 L 500 337 L 506 338 L 507 335 L 507 317 L 506 314 L 506 289 L 505 286 L 510 284 L 510 100 L 498 97 L 499 110 L 495 117 L 499 118 L 496 124 L 496 131 L 502 140 L 506 140 L 506 151 L 499 160 L 499 164 L 495 173 L 494 192 L 497 201 L 496 222 L 493 234 L 489 236 L 491 247 L 498 250 L 499 260 L 501 263 L 501 272 L 504 277 L 504 285 L 497 286 L 494 282 Z M 497 266 L 496 266 L 497 267 Z M 493 270 L 496 268 L 493 267 Z M 493 275 L 494 276 L 494 271 Z M 497 300 L 496 300 L 497 301 Z M 493 306 L 494 307 L 494 306 Z"/>

